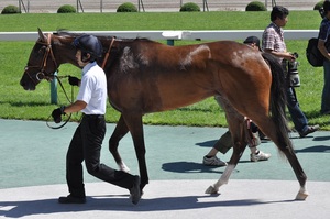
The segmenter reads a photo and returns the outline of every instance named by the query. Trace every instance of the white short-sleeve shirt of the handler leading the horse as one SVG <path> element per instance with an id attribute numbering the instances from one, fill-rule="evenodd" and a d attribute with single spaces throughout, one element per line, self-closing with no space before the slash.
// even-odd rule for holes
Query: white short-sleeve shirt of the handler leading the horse
<path id="1" fill-rule="evenodd" d="M 107 77 L 96 62 L 82 68 L 82 77 L 77 100 L 87 103 L 81 112 L 86 114 L 106 114 Z"/>

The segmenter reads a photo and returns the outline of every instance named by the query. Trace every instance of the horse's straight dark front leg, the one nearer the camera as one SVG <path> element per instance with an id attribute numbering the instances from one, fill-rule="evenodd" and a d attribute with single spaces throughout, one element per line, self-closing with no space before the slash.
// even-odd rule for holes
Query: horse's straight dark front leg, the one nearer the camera
<path id="1" fill-rule="evenodd" d="M 143 134 L 142 114 L 140 113 L 122 113 L 125 123 L 131 132 L 133 144 L 139 162 L 140 177 L 141 177 L 141 191 L 146 184 L 148 184 L 147 168 L 145 163 L 145 145 Z"/>

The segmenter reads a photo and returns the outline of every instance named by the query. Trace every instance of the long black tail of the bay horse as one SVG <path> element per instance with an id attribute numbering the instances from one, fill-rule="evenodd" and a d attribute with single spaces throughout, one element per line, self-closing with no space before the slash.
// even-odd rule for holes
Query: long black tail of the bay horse
<path id="1" fill-rule="evenodd" d="M 276 136 L 279 143 L 280 152 L 284 147 L 293 149 L 292 141 L 288 136 L 287 118 L 285 113 L 286 107 L 286 81 L 285 73 L 278 59 L 270 53 L 262 53 L 263 58 L 267 62 L 272 70 L 271 87 L 271 118 L 276 125 Z"/>

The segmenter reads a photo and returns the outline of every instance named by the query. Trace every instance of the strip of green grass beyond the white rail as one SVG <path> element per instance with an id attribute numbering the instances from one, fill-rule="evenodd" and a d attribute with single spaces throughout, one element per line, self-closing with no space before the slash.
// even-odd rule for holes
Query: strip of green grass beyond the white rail
<path id="1" fill-rule="evenodd" d="M 292 11 L 286 29 L 319 28 L 318 11 Z M 0 32 L 133 31 L 133 30 L 264 30 L 270 12 L 143 12 L 143 13 L 23 13 L 0 14 Z"/>

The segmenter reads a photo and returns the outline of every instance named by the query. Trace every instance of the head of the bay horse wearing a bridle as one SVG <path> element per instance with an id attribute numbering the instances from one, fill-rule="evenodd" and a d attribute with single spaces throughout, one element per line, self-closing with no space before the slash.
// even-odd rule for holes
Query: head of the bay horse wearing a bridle
<path id="1" fill-rule="evenodd" d="M 52 34 L 45 35 L 38 29 L 38 35 L 20 81 L 25 90 L 34 90 L 42 79 L 53 79 L 58 68 L 52 48 Z"/>

